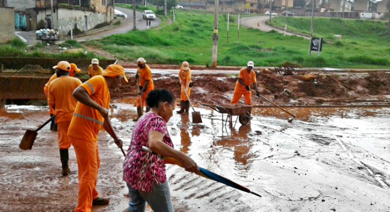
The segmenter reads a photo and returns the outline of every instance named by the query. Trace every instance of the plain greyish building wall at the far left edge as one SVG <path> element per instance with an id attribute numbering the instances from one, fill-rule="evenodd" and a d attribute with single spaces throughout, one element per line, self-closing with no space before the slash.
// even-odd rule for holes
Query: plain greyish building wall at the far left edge
<path id="1" fill-rule="evenodd" d="M 0 7 L 0 14 L 2 14 L 2 21 L 0 21 L 0 43 L 3 43 L 15 37 L 14 8 Z"/>

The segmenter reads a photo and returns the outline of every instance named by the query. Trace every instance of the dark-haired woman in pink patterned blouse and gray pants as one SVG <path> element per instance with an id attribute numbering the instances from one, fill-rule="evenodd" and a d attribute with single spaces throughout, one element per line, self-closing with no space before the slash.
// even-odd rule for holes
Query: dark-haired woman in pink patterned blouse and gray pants
<path id="1" fill-rule="evenodd" d="M 152 90 L 146 97 L 146 104 L 151 110 L 134 126 L 123 164 L 123 180 L 130 194 L 129 207 L 123 212 L 143 212 L 146 202 L 155 212 L 171 212 L 174 210 L 164 161 L 158 155 L 142 151 L 141 147 L 147 146 L 159 155 L 176 158 L 188 172 L 199 174 L 199 168 L 189 156 L 173 148 L 167 130 L 167 122 L 176 107 L 173 94 L 166 89 Z"/>

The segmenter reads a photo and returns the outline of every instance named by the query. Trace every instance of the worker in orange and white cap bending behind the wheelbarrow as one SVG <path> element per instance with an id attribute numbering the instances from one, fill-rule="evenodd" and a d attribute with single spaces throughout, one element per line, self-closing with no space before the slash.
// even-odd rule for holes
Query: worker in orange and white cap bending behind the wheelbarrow
<path id="1" fill-rule="evenodd" d="M 252 70 L 253 66 L 253 62 L 249 61 L 247 64 L 247 68 L 242 68 L 240 70 L 239 80 L 237 80 L 236 82 L 235 93 L 233 94 L 233 98 L 231 99 L 230 103 L 233 104 L 239 102 L 241 96 L 244 95 L 245 103 L 251 105 L 252 92 L 250 86 L 252 83 L 256 89 L 256 95 L 259 95 L 259 90 L 257 89 L 256 85 L 256 74 Z"/>

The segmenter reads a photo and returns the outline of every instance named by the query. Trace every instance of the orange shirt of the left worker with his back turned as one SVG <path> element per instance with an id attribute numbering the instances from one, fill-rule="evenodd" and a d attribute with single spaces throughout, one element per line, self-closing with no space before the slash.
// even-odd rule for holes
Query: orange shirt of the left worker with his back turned
<path id="1" fill-rule="evenodd" d="M 81 84 L 79 79 L 68 76 L 61 76 L 50 82 L 48 102 L 56 110 L 56 123 L 72 120 L 77 104 L 72 93 Z"/>

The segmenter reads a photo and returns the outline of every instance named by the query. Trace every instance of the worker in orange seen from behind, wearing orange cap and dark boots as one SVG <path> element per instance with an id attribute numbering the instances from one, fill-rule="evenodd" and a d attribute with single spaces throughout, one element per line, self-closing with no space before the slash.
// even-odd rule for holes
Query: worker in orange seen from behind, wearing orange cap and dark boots
<path id="1" fill-rule="evenodd" d="M 57 79 L 53 80 L 49 84 L 48 102 L 50 107 L 56 110 L 58 146 L 60 148 L 62 175 L 67 176 L 69 174 L 68 149 L 70 147 L 68 128 L 77 104 L 77 100 L 72 97 L 72 93 L 74 89 L 82 84 L 82 82 L 77 78 L 69 76 L 71 64 L 66 61 L 59 62 L 57 66 L 53 67 L 53 69 L 56 69 Z"/>

